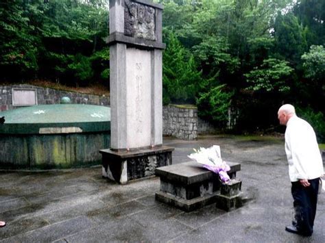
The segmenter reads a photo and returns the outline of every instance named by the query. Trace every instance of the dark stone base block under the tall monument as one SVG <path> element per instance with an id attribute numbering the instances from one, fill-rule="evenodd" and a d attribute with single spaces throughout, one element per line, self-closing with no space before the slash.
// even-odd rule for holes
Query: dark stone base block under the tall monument
<path id="1" fill-rule="evenodd" d="M 157 167 L 171 165 L 173 150 L 169 146 L 134 151 L 102 149 L 99 151 L 103 162 L 102 175 L 121 184 L 153 176 Z"/>

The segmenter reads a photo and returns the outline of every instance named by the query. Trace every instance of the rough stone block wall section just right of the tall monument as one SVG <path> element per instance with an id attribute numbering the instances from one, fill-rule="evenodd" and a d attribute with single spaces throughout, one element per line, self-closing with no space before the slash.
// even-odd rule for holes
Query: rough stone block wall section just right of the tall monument
<path id="1" fill-rule="evenodd" d="M 212 125 L 197 117 L 197 107 L 167 105 L 163 107 L 163 134 L 184 140 L 197 139 L 198 133 L 213 133 Z"/>

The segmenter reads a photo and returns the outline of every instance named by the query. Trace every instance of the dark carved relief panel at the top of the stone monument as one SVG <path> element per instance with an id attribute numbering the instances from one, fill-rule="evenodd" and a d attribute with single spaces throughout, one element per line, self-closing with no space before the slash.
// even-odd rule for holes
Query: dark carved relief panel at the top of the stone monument
<path id="1" fill-rule="evenodd" d="M 156 40 L 155 9 L 147 5 L 125 0 L 124 34 L 135 38 Z"/>

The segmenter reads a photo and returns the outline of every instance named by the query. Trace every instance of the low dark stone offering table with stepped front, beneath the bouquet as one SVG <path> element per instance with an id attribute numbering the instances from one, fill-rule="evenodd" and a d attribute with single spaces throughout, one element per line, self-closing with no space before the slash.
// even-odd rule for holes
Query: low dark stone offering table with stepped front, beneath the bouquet
<path id="1" fill-rule="evenodd" d="M 240 194 L 241 181 L 235 180 L 235 177 L 236 172 L 241 170 L 241 164 L 227 164 L 230 166 L 228 175 L 232 179 L 229 185 L 221 183 L 219 175 L 193 161 L 156 168 L 156 176 L 160 177 L 156 200 L 186 212 L 211 203 L 229 211 L 236 207 Z"/>

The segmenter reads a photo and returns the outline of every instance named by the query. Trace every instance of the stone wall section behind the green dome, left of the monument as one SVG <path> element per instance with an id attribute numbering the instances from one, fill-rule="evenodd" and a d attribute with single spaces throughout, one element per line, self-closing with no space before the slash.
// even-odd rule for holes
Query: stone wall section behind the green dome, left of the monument
<path id="1" fill-rule="evenodd" d="M 88 104 L 88 105 L 110 105 L 110 97 L 98 96 L 93 94 L 82 94 L 77 92 L 69 92 L 64 90 L 54 90 L 51 88 L 42 88 L 29 84 L 17 84 L 11 86 L 0 86 L 0 111 L 12 110 L 16 108 L 12 104 L 12 88 L 34 89 L 37 92 L 37 104 L 58 104 L 62 97 L 69 97 L 71 103 Z"/>

